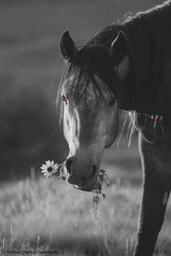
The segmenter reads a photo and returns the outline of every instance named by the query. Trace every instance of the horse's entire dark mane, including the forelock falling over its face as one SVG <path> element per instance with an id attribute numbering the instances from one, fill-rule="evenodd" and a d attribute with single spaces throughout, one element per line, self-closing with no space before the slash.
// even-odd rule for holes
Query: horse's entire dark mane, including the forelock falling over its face
<path id="1" fill-rule="evenodd" d="M 122 87 L 118 83 L 118 75 L 109 56 L 111 43 L 119 31 L 122 31 L 128 40 L 129 72 L 126 83 Z M 166 111 L 167 106 L 170 106 L 171 86 L 170 77 L 167 77 L 167 65 L 169 63 L 171 65 L 170 39 L 171 0 L 107 26 L 86 42 L 76 54 L 73 63 L 67 66 L 61 79 L 57 102 L 63 80 L 69 77 L 73 71 L 80 70 L 79 81 L 84 74 L 84 78 L 88 78 L 87 83 L 91 79 L 93 85 L 100 90 L 94 77 L 94 74 L 98 75 L 118 97 L 119 108 L 136 110 L 140 113 L 144 113 L 146 108 L 147 114 L 156 111 L 157 113 L 154 112 L 154 114 L 160 115 Z M 116 83 L 113 83 L 115 81 L 113 78 L 117 79 Z M 83 80 L 85 82 L 85 79 Z M 130 99 L 129 105 L 126 104 L 123 91 L 124 95 Z M 167 97 L 167 95 L 169 96 Z M 61 108 L 60 118 L 62 116 Z"/>

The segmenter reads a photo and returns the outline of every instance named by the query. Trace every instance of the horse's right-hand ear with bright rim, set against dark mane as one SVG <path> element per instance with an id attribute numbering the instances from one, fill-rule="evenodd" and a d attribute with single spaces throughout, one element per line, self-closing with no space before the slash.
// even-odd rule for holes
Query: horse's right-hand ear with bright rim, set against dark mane
<path id="1" fill-rule="evenodd" d="M 117 38 L 110 47 L 110 55 L 115 66 L 117 66 L 127 53 L 127 38 L 122 31 L 118 33 Z"/>

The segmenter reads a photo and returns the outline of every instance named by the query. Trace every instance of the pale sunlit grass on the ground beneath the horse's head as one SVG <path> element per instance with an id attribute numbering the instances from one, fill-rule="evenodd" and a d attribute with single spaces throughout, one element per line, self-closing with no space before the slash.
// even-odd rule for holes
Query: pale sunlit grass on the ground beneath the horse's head
<path id="1" fill-rule="evenodd" d="M 93 193 L 78 191 L 56 177 L 5 183 L 0 189 L 0 252 L 9 250 L 58 251 L 61 256 L 131 256 L 136 240 L 141 187 L 110 176 L 106 199 L 98 210 L 109 224 L 103 232 L 86 216 L 93 208 Z M 168 256 L 171 205 L 156 246 L 156 253 Z M 133 241 L 131 246 L 131 240 Z M 132 247 L 132 252 L 130 248 Z M 162 249 L 163 247 L 163 249 Z M 161 251 L 160 251 L 161 250 Z M 13 255 L 13 254 L 10 254 Z M 29 254 L 32 255 L 32 254 Z M 155 254 L 156 255 L 156 254 Z"/>

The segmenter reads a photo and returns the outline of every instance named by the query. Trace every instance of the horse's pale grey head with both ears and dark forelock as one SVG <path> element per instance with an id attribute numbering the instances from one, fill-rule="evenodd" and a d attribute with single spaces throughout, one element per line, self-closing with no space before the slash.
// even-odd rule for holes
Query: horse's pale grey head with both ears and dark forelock
<path id="1" fill-rule="evenodd" d="M 67 183 L 92 191 L 103 151 L 118 134 L 120 81 L 116 66 L 126 55 L 126 38 L 119 32 L 110 49 L 93 44 L 78 50 L 66 31 L 60 38 L 60 51 L 66 72 L 58 89 L 58 101 L 70 148 L 63 169 Z"/>

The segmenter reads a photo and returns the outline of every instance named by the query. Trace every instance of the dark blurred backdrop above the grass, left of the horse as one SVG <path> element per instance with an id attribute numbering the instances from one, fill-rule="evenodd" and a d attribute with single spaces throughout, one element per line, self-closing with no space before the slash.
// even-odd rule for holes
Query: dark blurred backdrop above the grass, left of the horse
<path id="1" fill-rule="evenodd" d="M 124 17 L 161 0 L 1 0 L 0 178 L 29 175 L 45 160 L 65 160 L 68 146 L 55 100 L 64 70 L 58 42 L 66 29 L 77 46 Z M 57 67 L 58 66 L 58 67 Z M 53 79 L 54 78 L 54 79 Z M 52 83 L 53 82 L 53 83 Z"/>

